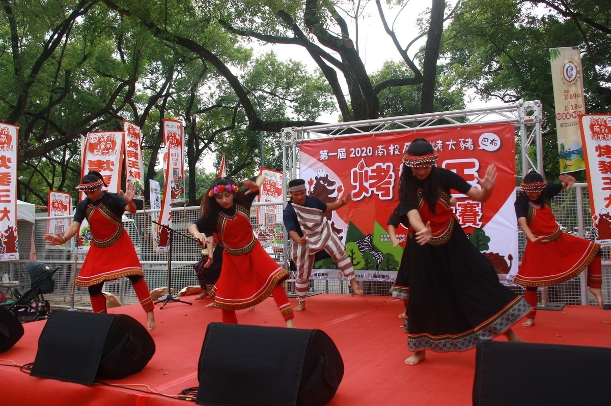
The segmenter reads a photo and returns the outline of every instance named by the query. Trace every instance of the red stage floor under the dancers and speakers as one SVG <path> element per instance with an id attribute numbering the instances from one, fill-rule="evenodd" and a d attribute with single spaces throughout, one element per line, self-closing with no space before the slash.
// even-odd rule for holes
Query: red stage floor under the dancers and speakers
<path id="1" fill-rule="evenodd" d="M 192 305 L 170 303 L 163 310 L 157 308 L 157 329 L 152 332 L 155 355 L 138 374 L 104 381 L 117 386 L 104 383 L 86 386 L 31 377 L 27 371 L 9 366 L 34 361 L 45 321 L 24 324 L 24 337 L 0 354 L 0 405 L 185 405 L 183 400 L 151 391 L 175 396 L 198 385 L 197 363 L 203 336 L 208 323 L 221 321 L 221 312 L 206 308 L 210 301 L 195 301 L 193 297 L 183 298 Z M 291 299 L 293 305 L 295 301 Z M 403 360 L 411 353 L 401 319 L 397 317 L 401 307 L 400 301 L 380 296 L 319 294 L 307 299 L 307 310 L 296 314 L 297 326 L 326 332 L 345 365 L 342 383 L 328 405 L 471 404 L 475 350 L 427 352 L 427 359 L 419 365 L 405 365 Z M 111 311 L 141 322 L 145 319 L 138 305 Z M 284 326 L 271 298 L 253 312 L 238 312 L 238 321 Z M 535 326 L 525 328 L 517 324 L 514 329 L 526 342 L 611 347 L 611 311 L 598 307 L 567 306 L 560 312 L 540 311 Z M 510 383 L 511 377 L 508 380 Z"/>

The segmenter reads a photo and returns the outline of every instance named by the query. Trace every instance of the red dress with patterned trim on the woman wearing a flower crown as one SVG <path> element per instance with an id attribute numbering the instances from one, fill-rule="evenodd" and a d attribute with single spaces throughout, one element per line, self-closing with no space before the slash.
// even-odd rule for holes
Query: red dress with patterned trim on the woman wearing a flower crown
<path id="1" fill-rule="evenodd" d="M 239 310 L 262 302 L 278 283 L 288 278 L 288 272 L 265 252 L 255 238 L 250 209 L 235 204 L 229 209 L 233 210 L 233 215 L 225 210 L 216 218 L 216 230 L 225 249 L 221 276 L 210 291 L 214 307 L 227 310 Z"/>

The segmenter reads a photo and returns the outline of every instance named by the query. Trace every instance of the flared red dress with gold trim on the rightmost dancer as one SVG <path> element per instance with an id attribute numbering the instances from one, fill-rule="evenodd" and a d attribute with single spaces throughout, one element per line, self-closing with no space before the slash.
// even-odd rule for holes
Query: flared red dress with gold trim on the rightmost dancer
<path id="1" fill-rule="evenodd" d="M 546 189 L 554 187 L 548 185 Z M 543 201 L 528 201 L 525 216 L 530 230 L 536 237 L 548 236 L 552 240 L 546 244 L 526 241 L 524 257 L 514 281 L 523 286 L 540 287 L 558 285 L 579 275 L 598 254 L 600 245 L 594 241 L 567 234 L 560 230 L 552 212 L 549 198 L 555 196 L 557 191 L 543 191 Z M 551 193 L 551 194 L 550 194 Z M 525 196 L 516 199 L 516 212 L 518 205 L 524 205 Z M 538 204 L 539 203 L 539 204 Z M 518 216 L 522 216 L 518 214 Z"/>

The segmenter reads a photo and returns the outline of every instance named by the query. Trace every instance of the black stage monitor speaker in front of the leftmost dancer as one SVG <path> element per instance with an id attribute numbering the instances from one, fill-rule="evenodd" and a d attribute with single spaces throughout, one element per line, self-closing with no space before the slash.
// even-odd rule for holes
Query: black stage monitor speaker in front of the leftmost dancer
<path id="1" fill-rule="evenodd" d="M 155 341 L 130 316 L 56 310 L 38 338 L 31 376 L 91 385 L 140 372 L 153 354 Z"/>

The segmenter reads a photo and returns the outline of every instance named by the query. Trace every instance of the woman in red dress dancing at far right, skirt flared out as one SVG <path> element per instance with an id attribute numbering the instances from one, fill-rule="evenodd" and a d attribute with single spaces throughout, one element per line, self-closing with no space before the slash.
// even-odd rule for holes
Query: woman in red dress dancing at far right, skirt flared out
<path id="1" fill-rule="evenodd" d="M 526 287 L 526 301 L 533 310 L 522 323 L 535 324 L 537 287 L 566 282 L 588 268 L 587 284 L 602 307 L 602 267 L 600 248 L 593 241 L 562 232 L 552 213 L 551 199 L 561 190 L 571 187 L 575 178 L 560 175 L 562 183 L 547 184 L 543 176 L 530 171 L 521 183 L 515 208 L 518 224 L 527 238 L 524 257 L 516 283 Z"/>

